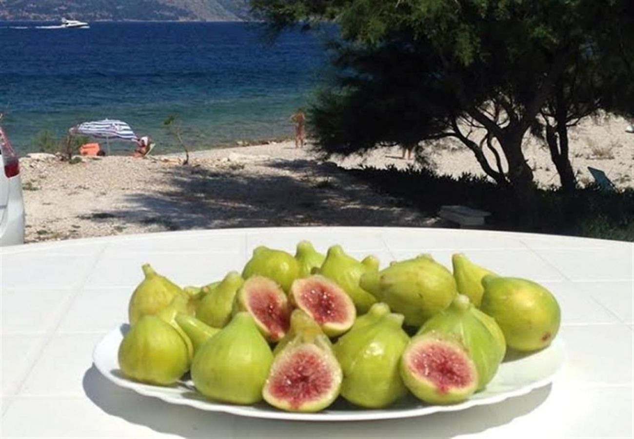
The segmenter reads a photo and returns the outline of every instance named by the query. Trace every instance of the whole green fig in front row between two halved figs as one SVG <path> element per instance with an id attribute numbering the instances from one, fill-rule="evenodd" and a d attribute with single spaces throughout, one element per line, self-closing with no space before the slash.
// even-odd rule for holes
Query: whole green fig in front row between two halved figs
<path id="1" fill-rule="evenodd" d="M 361 407 L 381 409 L 407 393 L 399 360 L 410 337 L 402 325 L 402 314 L 388 313 L 339 338 L 333 350 L 344 373 L 341 396 Z"/>

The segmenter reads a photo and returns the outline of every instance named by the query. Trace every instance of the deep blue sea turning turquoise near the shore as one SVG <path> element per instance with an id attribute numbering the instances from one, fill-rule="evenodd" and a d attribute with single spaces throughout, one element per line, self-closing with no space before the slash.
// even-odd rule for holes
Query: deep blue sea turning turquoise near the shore
<path id="1" fill-rule="evenodd" d="M 16 149 L 44 130 L 120 119 L 157 152 L 178 150 L 163 122 L 177 115 L 192 148 L 292 136 L 288 121 L 327 81 L 323 39 L 289 31 L 267 42 L 256 23 L 0 22 L 0 112 Z M 112 143 L 113 154 L 131 145 Z"/>

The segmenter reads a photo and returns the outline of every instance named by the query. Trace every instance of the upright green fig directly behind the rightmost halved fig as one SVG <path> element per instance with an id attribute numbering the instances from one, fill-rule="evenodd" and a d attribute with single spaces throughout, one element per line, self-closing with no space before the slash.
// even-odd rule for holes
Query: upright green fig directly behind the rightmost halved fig
<path id="1" fill-rule="evenodd" d="M 477 309 L 469 302 L 469 298 L 459 294 L 448 308 L 427 320 L 418 334 L 434 332 L 462 344 L 478 372 L 476 390 L 482 390 L 497 372 L 504 358 L 505 348 L 500 346 L 496 336 L 498 330 L 491 331 L 490 322 L 485 324 L 482 317 L 475 312 Z"/>

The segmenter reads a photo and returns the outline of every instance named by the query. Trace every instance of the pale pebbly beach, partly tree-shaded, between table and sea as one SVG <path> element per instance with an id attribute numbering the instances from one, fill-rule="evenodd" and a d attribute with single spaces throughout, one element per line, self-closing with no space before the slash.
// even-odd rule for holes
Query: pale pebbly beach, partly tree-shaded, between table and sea
<path id="1" fill-rule="evenodd" d="M 634 187 L 634 134 L 626 121 L 585 121 L 571 132 L 571 161 L 582 185 L 588 166 L 617 187 Z M 158 148 L 160 151 L 160 148 Z M 526 142 L 541 187 L 559 183 L 548 151 Z M 439 174 L 482 174 L 472 152 L 455 141 L 424 149 Z M 344 170 L 417 166 L 399 148 L 365 157 L 320 161 L 292 141 L 146 159 L 110 156 L 77 164 L 51 157 L 20 161 L 27 242 L 194 228 L 302 225 L 441 226 L 379 194 Z"/>

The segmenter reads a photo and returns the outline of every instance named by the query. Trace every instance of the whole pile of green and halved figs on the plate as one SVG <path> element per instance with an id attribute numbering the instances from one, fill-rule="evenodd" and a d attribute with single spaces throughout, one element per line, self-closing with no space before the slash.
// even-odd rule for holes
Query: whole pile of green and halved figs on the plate
<path id="1" fill-rule="evenodd" d="M 557 335 L 560 308 L 541 285 L 501 277 L 463 254 L 453 273 L 429 255 L 358 261 L 310 242 L 295 256 L 257 247 L 242 273 L 181 289 L 143 265 L 119 347 L 122 374 L 171 386 L 190 374 L 215 402 L 265 400 L 294 412 L 339 396 L 388 407 L 409 393 L 462 402 L 486 388 L 507 350 Z"/>

